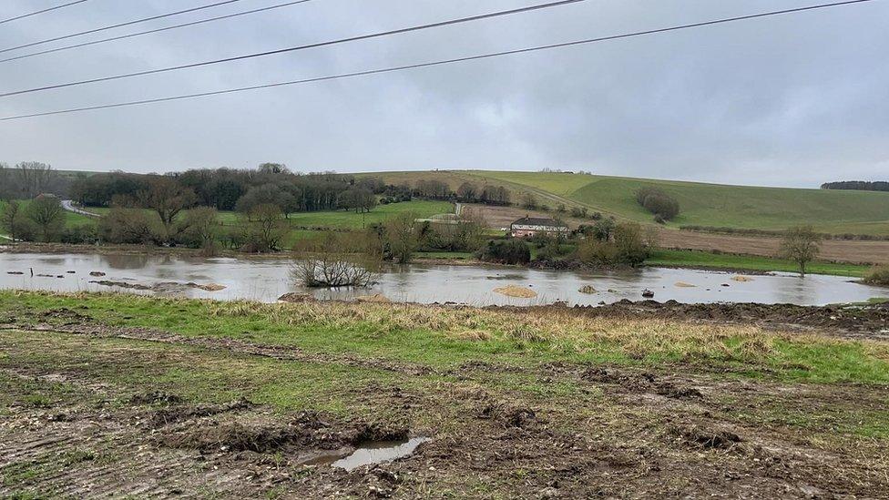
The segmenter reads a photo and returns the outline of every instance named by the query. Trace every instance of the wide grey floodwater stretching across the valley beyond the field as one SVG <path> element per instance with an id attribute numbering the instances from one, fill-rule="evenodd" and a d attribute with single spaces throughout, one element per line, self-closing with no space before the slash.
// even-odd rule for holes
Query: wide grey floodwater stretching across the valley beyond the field
<path id="1" fill-rule="evenodd" d="M 31 275 L 32 270 L 34 276 Z M 203 259 L 169 254 L 0 253 L 0 288 L 128 291 L 222 301 L 266 302 L 276 301 L 290 291 L 312 293 L 322 300 L 352 300 L 380 293 L 391 301 L 456 302 L 475 306 L 539 305 L 556 301 L 564 301 L 568 305 L 595 305 L 601 301 L 637 301 L 642 299 L 641 293 L 646 289 L 655 293 L 656 301 L 689 303 L 723 301 L 823 305 L 866 301 L 889 295 L 889 290 L 855 283 L 851 278 L 822 275 L 799 278 L 781 273 L 751 276 L 750 281 L 735 281 L 732 273 L 706 270 L 644 268 L 619 272 L 576 272 L 421 264 L 387 268 L 379 282 L 371 288 L 307 291 L 291 278 L 290 270 L 291 260 L 286 257 Z M 106 275 L 90 276 L 92 271 Z M 97 280 L 148 287 L 158 283 L 167 285 L 158 287 L 158 290 L 132 290 L 90 282 Z M 171 281 L 220 284 L 225 289 L 205 291 L 170 287 Z M 536 291 L 537 296 L 530 299 L 513 298 L 494 291 L 507 285 L 529 288 Z M 587 285 L 596 292 L 579 291 Z"/>

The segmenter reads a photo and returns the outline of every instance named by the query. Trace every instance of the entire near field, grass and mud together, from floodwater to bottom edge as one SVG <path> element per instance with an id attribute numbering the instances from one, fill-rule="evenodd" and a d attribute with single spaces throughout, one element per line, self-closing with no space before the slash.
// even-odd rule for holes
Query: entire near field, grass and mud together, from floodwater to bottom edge
<path id="1" fill-rule="evenodd" d="M 837 495 L 889 485 L 885 342 L 568 309 L 15 291 L 0 291 L 0 323 L 0 496 L 777 497 L 789 474 Z M 317 460 L 405 435 L 432 440 L 351 472 Z"/>

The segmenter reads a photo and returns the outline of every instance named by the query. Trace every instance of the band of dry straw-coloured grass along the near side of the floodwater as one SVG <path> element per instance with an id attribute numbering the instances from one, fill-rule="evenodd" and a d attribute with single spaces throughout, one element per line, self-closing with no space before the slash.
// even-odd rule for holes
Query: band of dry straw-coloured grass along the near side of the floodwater
<path id="1" fill-rule="evenodd" d="M 774 354 L 775 343 L 781 340 L 846 342 L 800 333 L 763 332 L 744 325 L 588 317 L 556 308 L 520 311 L 396 303 L 220 302 L 212 304 L 212 311 L 218 316 L 259 315 L 292 327 L 343 330 L 362 325 L 376 332 L 438 332 L 461 340 L 548 342 L 554 350 L 571 352 L 590 352 L 608 345 L 631 357 L 681 352 L 688 359 L 715 356 L 742 361 Z M 876 349 L 884 352 L 885 346 L 880 344 Z"/>

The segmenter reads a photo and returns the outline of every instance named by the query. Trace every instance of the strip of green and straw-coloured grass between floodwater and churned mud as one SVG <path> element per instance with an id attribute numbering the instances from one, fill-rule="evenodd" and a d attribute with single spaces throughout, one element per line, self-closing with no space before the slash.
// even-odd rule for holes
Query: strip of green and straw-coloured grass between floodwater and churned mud
<path id="1" fill-rule="evenodd" d="M 66 308 L 114 326 L 160 328 L 187 336 L 358 352 L 440 368 L 498 362 L 680 362 L 743 366 L 783 379 L 889 383 L 889 363 L 857 342 L 763 334 L 746 327 L 618 321 L 569 313 L 455 310 L 338 302 L 257 304 L 153 299 L 125 294 L 0 292 L 0 313 L 41 317 Z M 837 361 L 842 362 L 837 362 Z M 804 371 L 797 367 L 809 366 Z M 791 367 L 791 368 L 788 368 Z"/>

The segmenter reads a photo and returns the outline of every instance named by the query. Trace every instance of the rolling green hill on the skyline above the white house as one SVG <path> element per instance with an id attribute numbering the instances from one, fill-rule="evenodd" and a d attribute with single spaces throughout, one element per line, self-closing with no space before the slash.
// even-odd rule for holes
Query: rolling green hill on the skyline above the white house
<path id="1" fill-rule="evenodd" d="M 812 224 L 830 233 L 889 234 L 889 193 L 874 191 L 758 188 L 656 179 L 631 179 L 587 174 L 486 170 L 387 172 L 371 174 L 388 182 L 440 179 L 453 189 L 465 180 L 505 185 L 535 193 L 550 207 L 585 206 L 621 219 L 652 219 L 634 193 L 656 187 L 680 202 L 680 216 L 670 227 L 685 225 L 782 230 Z M 517 197 L 514 197 L 517 199 Z"/>

